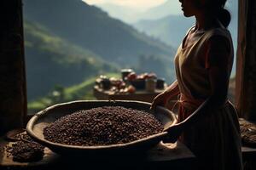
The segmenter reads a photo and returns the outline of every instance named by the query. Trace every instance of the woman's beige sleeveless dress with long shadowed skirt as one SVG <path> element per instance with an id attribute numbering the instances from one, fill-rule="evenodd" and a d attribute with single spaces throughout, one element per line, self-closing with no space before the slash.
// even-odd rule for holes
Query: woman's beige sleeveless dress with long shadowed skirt
<path id="1" fill-rule="evenodd" d="M 211 94 L 208 78 L 210 63 L 205 49 L 207 40 L 216 35 L 226 37 L 230 41 L 230 73 L 234 58 L 233 42 L 230 31 L 225 28 L 205 31 L 193 44 L 183 48 L 182 43 L 177 49 L 175 67 L 178 87 L 182 94 L 179 99 L 182 102 L 178 108 L 178 122 L 190 116 Z M 180 140 L 198 158 L 201 169 L 242 169 L 240 127 L 236 109 L 230 101 L 186 129 Z"/>

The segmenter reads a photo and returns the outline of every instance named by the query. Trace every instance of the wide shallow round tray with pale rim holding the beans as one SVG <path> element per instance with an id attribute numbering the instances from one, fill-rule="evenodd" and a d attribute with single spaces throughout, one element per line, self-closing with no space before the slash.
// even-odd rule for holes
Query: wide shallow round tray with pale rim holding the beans
<path id="1" fill-rule="evenodd" d="M 89 110 L 102 106 L 123 106 L 125 108 L 137 109 L 140 111 L 147 111 L 153 114 L 164 127 L 170 127 L 176 123 L 175 115 L 164 107 L 158 106 L 155 111 L 149 111 L 150 103 L 141 101 L 126 101 L 126 100 L 78 100 L 69 103 L 62 103 L 52 105 L 43 111 L 36 113 L 26 125 L 27 133 L 35 139 L 38 143 L 49 147 L 50 150 L 59 154 L 104 154 L 104 153 L 128 153 L 132 151 L 148 150 L 166 136 L 166 132 L 151 135 L 144 139 L 138 139 L 125 144 L 110 144 L 110 145 L 97 145 L 97 146 L 78 146 L 50 142 L 44 139 L 44 127 L 50 123 L 55 122 L 61 116 L 67 116 L 75 111 Z"/>

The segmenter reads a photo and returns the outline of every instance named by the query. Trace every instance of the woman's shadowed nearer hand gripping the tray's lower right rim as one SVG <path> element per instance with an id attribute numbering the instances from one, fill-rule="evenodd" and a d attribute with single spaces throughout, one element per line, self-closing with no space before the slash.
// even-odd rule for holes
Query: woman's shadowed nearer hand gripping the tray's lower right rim
<path id="1" fill-rule="evenodd" d="M 168 133 L 166 138 L 163 139 L 164 143 L 175 143 L 178 139 L 178 137 L 183 132 L 183 125 L 181 123 L 177 123 L 175 125 L 172 125 L 172 127 L 168 127 L 165 129 L 165 131 Z"/>

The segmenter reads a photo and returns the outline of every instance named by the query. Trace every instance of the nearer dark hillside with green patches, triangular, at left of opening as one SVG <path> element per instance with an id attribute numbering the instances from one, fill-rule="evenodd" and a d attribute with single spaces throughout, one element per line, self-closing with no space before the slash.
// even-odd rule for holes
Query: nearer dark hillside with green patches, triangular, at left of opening
<path id="1" fill-rule="evenodd" d="M 56 85 L 71 86 L 119 67 L 57 37 L 40 24 L 25 20 L 26 80 L 28 99 L 48 94 Z"/>

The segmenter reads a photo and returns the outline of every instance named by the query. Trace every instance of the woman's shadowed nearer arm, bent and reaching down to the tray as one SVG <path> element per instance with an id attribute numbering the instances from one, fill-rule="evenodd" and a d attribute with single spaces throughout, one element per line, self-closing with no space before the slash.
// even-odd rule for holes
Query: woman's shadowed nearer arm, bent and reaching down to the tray
<path id="1" fill-rule="evenodd" d="M 211 83 L 212 94 L 192 115 L 183 122 L 170 127 L 167 131 L 173 136 L 173 141 L 177 140 L 184 128 L 190 127 L 201 117 L 207 116 L 217 111 L 224 105 L 227 99 L 229 86 L 229 56 L 230 42 L 225 37 L 215 36 L 208 42 L 207 49 L 207 69 Z"/>

